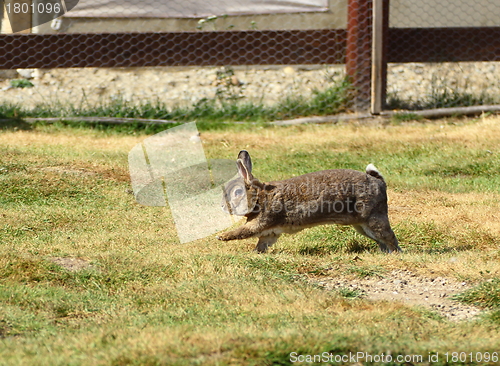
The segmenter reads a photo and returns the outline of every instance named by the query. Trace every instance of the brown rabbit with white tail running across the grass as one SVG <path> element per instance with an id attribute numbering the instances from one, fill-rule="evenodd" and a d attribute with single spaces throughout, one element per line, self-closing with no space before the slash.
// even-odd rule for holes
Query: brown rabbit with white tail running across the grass
<path id="1" fill-rule="evenodd" d="M 255 251 L 264 253 L 283 233 L 324 225 L 352 225 L 375 240 L 382 252 L 401 252 L 389 224 L 384 178 L 373 164 L 366 173 L 323 170 L 263 183 L 252 175 L 246 150 L 236 160 L 237 178 L 223 188 L 222 209 L 246 216 L 244 225 L 217 236 L 228 241 L 258 237 Z"/>

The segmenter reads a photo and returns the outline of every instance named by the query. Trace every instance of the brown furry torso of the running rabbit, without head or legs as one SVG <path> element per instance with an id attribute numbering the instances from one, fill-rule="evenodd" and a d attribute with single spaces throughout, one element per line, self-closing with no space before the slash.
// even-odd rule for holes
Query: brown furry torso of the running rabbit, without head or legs
<path id="1" fill-rule="evenodd" d="M 353 225 L 387 205 L 385 182 L 350 169 L 323 170 L 264 184 L 256 207 L 276 225 Z M 287 230 L 288 232 L 288 230 Z"/>

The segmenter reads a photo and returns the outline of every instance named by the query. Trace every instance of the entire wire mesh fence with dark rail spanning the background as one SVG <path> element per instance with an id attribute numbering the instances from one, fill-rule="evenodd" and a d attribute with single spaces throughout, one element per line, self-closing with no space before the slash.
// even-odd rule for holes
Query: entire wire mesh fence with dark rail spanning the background
<path id="1" fill-rule="evenodd" d="M 386 7 L 381 92 L 387 75 L 389 108 L 498 103 L 497 0 L 375 1 Z M 1 98 L 46 106 L 45 115 L 178 120 L 366 110 L 372 7 L 372 0 L 5 0 Z"/>

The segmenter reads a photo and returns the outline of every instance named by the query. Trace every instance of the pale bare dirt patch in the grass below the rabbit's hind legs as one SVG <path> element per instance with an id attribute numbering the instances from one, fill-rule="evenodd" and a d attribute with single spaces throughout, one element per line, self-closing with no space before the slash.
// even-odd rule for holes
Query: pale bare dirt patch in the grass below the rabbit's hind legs
<path id="1" fill-rule="evenodd" d="M 357 291 L 362 297 L 373 301 L 399 301 L 423 306 L 453 321 L 470 319 L 481 311 L 452 299 L 453 295 L 470 288 L 469 283 L 438 276 L 423 277 L 408 270 L 394 270 L 383 277 L 354 280 L 324 277 L 318 284 L 328 290 Z"/>

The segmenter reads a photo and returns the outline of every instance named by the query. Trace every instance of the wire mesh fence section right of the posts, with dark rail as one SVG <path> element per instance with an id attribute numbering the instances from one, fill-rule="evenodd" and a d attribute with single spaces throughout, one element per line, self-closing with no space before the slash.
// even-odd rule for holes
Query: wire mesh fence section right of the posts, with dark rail
<path id="1" fill-rule="evenodd" d="M 388 107 L 500 103 L 499 19 L 496 0 L 391 0 Z"/>

